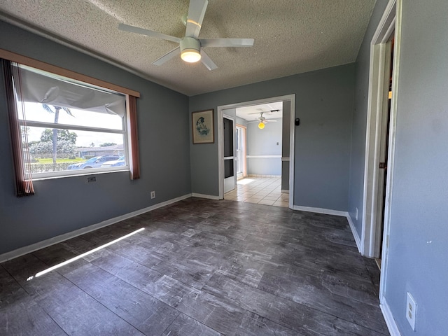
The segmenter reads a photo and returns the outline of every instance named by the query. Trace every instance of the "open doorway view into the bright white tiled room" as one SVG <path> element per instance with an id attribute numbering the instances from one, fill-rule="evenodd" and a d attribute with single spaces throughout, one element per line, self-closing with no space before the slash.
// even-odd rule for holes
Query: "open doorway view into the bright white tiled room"
<path id="1" fill-rule="evenodd" d="M 239 106 L 235 114 L 239 123 L 235 134 L 237 188 L 225 193 L 224 199 L 288 207 L 288 186 L 281 190 L 283 102 Z M 245 139 L 243 131 L 246 131 Z M 242 155 L 244 149 L 246 158 Z M 241 172 L 244 163 L 246 174 Z"/>

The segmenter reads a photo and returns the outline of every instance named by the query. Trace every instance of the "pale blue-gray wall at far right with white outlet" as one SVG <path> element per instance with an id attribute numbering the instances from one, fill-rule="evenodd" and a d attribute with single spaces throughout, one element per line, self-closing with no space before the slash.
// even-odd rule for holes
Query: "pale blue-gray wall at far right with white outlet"
<path id="1" fill-rule="evenodd" d="M 386 300 L 405 335 L 448 335 L 448 1 L 403 1 Z M 405 318 L 417 303 L 416 332 Z"/>

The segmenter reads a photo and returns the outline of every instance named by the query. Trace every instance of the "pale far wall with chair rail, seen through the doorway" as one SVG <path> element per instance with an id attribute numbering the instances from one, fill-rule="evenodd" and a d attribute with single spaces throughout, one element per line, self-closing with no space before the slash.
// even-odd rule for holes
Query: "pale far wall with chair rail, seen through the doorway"
<path id="1" fill-rule="evenodd" d="M 258 123 L 247 126 L 247 155 L 281 155 L 281 118 L 266 123 L 260 130 Z M 281 158 L 247 158 L 247 174 L 281 175 Z"/>

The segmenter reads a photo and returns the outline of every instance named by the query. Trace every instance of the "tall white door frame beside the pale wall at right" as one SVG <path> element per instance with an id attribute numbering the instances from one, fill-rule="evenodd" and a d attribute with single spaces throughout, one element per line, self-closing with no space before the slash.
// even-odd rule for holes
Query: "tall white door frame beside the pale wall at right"
<path id="1" fill-rule="evenodd" d="M 393 71 L 392 71 L 392 99 L 391 99 L 391 120 L 389 122 L 389 146 L 388 146 L 388 167 L 386 178 L 386 193 L 384 201 L 384 231 L 381 255 L 381 278 L 379 288 L 379 299 L 381 310 L 387 307 L 386 279 L 388 264 L 388 237 L 391 230 L 391 195 L 393 191 L 393 170 L 395 162 L 395 134 L 397 120 L 397 97 L 398 97 L 398 75 L 400 69 L 400 44 L 401 44 L 401 10 L 402 0 L 389 0 L 384 14 L 379 22 L 377 30 L 372 38 L 370 45 L 370 75 L 369 75 L 369 94 L 367 102 L 367 127 L 365 139 L 365 166 L 364 166 L 364 190 L 363 190 L 363 218 L 360 252 L 367 257 L 379 255 L 378 237 L 381 235 L 381 223 L 377 221 L 378 214 L 378 180 L 379 180 L 379 151 L 381 144 L 381 119 L 384 116 L 384 83 L 388 81 L 385 78 L 386 73 L 390 71 L 390 63 L 386 63 L 386 52 L 388 50 L 388 41 L 395 31 Z M 387 111 L 386 111 L 387 112 Z M 379 224 L 378 224 L 379 223 Z M 385 314 L 388 326 L 393 325 L 388 321 L 388 314 Z"/>

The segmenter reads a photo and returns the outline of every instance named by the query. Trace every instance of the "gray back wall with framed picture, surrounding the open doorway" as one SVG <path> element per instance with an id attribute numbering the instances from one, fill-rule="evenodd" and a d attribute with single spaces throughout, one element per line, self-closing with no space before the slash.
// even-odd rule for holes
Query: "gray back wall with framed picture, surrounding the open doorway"
<path id="1" fill-rule="evenodd" d="M 190 97 L 190 112 L 295 94 L 294 204 L 347 211 L 354 64 Z M 190 145 L 193 193 L 218 195 L 218 142 Z"/>

